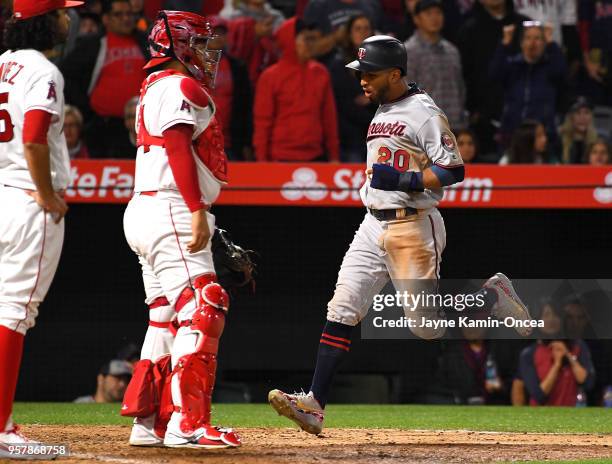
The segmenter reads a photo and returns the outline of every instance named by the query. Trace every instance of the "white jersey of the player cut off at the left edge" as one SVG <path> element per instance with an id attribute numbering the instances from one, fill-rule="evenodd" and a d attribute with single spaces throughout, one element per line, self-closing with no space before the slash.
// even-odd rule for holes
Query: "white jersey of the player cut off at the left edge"
<path id="1" fill-rule="evenodd" d="M 6 51 L 0 56 L 0 184 L 35 190 L 23 151 L 23 120 L 29 110 L 52 115 L 47 133 L 51 179 L 55 190 L 63 190 L 70 180 L 64 78 L 39 51 Z"/>

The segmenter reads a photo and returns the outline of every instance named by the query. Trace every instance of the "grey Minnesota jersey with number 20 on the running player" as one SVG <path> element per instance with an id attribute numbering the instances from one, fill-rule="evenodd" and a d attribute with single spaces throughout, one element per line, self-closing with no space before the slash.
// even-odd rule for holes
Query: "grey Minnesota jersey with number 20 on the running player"
<path id="1" fill-rule="evenodd" d="M 423 92 L 409 90 L 401 100 L 380 105 L 368 129 L 367 145 L 368 169 L 374 163 L 400 172 L 423 171 L 432 164 L 447 168 L 463 164 L 445 114 Z M 443 190 L 388 192 L 370 187 L 368 178 L 360 193 L 367 208 L 427 209 L 440 202 Z"/>

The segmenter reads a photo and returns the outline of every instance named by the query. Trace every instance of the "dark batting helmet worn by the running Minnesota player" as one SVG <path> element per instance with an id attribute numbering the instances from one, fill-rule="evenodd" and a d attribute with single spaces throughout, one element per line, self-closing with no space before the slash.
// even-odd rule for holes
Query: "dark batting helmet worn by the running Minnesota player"
<path id="1" fill-rule="evenodd" d="M 360 72 L 398 68 L 406 75 L 408 55 L 404 44 L 389 35 L 374 35 L 365 39 L 357 50 L 357 59 L 346 65 Z"/>

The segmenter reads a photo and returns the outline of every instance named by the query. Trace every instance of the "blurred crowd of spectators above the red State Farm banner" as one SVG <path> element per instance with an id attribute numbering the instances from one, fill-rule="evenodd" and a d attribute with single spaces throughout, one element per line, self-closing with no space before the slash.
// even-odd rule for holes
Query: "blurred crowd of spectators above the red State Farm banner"
<path id="1" fill-rule="evenodd" d="M 54 56 L 73 158 L 135 157 L 159 9 L 202 14 L 217 34 L 212 93 L 232 160 L 364 161 L 376 106 L 344 65 L 388 34 L 466 162 L 610 162 L 612 0 L 87 0 Z"/>

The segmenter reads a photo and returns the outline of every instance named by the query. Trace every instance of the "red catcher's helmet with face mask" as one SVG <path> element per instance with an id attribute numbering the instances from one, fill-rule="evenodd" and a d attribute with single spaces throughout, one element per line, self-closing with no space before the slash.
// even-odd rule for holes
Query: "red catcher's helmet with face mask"
<path id="1" fill-rule="evenodd" d="M 204 17 L 186 11 L 162 10 L 149 34 L 151 60 L 144 68 L 177 59 L 198 81 L 213 87 L 221 51 L 208 50 L 208 41 L 212 38 L 212 29 Z"/>

